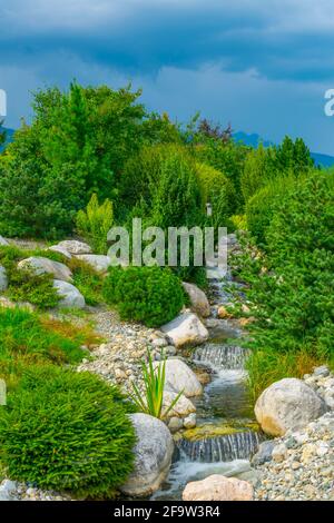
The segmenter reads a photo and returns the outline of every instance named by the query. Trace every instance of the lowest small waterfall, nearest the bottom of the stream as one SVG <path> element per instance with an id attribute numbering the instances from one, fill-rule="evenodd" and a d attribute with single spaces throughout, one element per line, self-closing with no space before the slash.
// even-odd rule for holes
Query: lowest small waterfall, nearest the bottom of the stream
<path id="1" fill-rule="evenodd" d="M 258 432 L 247 431 L 195 442 L 183 438 L 177 445 L 193 462 L 215 463 L 248 460 L 257 452 L 261 440 Z"/>

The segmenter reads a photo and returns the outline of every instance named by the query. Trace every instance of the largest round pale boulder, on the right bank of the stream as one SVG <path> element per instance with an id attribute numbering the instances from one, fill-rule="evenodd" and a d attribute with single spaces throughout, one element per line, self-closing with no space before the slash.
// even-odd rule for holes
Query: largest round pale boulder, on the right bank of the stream
<path id="1" fill-rule="evenodd" d="M 326 412 L 325 402 L 302 379 L 273 383 L 258 397 L 255 415 L 262 430 L 272 436 L 298 431 Z"/>

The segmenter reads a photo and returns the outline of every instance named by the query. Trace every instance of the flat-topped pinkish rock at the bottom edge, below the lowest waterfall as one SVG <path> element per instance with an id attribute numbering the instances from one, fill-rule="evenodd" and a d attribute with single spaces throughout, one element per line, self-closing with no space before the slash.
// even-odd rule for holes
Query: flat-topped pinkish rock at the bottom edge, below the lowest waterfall
<path id="1" fill-rule="evenodd" d="M 183 492 L 183 501 L 252 501 L 253 486 L 247 481 L 213 474 L 193 481 Z"/>

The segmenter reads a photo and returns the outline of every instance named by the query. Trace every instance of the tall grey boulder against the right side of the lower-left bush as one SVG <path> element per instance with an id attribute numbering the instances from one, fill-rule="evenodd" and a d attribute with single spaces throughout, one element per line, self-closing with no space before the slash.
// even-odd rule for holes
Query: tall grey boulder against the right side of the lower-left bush
<path id="1" fill-rule="evenodd" d="M 148 414 L 130 415 L 137 434 L 134 448 L 135 470 L 121 492 L 132 496 L 147 496 L 166 480 L 174 452 L 173 437 L 160 420 Z"/>

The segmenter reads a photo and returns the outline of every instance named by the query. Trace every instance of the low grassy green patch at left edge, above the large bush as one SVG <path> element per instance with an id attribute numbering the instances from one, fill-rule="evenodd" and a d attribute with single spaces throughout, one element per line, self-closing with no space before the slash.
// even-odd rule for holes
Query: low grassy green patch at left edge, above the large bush
<path id="1" fill-rule="evenodd" d="M 0 308 L 0 355 L 2 358 L 26 357 L 29 361 L 78 363 L 84 357 L 85 337 L 65 336 L 58 328 L 45 325 L 36 313 L 22 308 Z"/>

